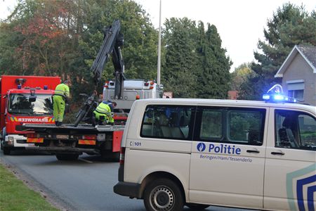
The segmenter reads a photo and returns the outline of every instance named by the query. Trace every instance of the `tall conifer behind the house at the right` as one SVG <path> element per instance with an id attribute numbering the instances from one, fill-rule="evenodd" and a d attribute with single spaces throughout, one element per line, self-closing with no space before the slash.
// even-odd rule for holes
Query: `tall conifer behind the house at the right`
<path id="1" fill-rule="evenodd" d="M 239 96 L 244 99 L 260 99 L 273 84 L 279 83 L 275 73 L 281 67 L 289 52 L 295 45 L 308 44 L 316 46 L 315 11 L 309 15 L 302 7 L 284 4 L 268 20 L 268 29 L 264 30 L 265 41 L 258 41 L 254 57 L 257 62 L 251 64 L 254 73 L 242 84 Z"/>

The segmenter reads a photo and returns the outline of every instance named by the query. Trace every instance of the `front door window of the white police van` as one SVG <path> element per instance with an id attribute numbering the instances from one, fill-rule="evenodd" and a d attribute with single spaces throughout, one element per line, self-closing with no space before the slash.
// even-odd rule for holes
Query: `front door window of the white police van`
<path id="1" fill-rule="evenodd" d="M 275 146 L 316 151 L 316 120 L 294 110 L 275 110 Z"/>

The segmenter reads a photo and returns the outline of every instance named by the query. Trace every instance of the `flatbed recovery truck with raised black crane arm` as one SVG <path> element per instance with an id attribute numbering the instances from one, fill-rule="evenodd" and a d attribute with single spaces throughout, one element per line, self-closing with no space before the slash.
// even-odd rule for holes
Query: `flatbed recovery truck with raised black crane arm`
<path id="1" fill-rule="evenodd" d="M 128 80 L 124 76 L 124 62 L 121 56 L 121 46 L 124 39 L 120 32 L 119 20 L 104 32 L 103 44 L 96 60 L 91 66 L 95 87 L 102 77 L 105 63 L 112 56 L 114 65 L 114 81 L 106 82 L 103 87 L 103 100 L 117 103 L 114 110 L 114 125 L 93 126 L 89 113 L 93 110 L 81 109 L 77 114 L 75 124 L 62 124 L 62 127 L 51 125 L 23 124 L 25 130 L 33 133 L 27 135 L 27 142 L 34 143 L 29 149 L 55 153 L 58 160 L 77 160 L 79 155 L 101 155 L 103 158 L 119 160 L 121 137 L 125 122 L 133 101 L 138 98 L 156 98 L 162 96 L 162 87 L 157 83 L 145 80 Z M 92 94 L 86 105 L 94 104 L 96 94 Z M 84 124 L 79 122 L 85 121 Z"/>

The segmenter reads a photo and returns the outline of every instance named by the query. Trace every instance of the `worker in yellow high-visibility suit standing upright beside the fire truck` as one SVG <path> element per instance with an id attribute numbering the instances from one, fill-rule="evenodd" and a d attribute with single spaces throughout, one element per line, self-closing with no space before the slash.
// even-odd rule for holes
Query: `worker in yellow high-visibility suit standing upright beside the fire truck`
<path id="1" fill-rule="evenodd" d="M 58 84 L 55 88 L 55 94 L 53 95 L 53 115 L 57 126 L 62 125 L 62 120 L 64 119 L 66 102 L 70 98 L 69 85 L 70 82 L 65 80 L 65 82 Z"/>

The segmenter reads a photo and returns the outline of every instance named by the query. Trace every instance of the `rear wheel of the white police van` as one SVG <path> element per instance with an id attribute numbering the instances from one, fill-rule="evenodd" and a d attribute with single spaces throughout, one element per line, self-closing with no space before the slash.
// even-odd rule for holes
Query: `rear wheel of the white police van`
<path id="1" fill-rule="evenodd" d="M 144 205 L 150 211 L 183 210 L 183 194 L 171 179 L 157 179 L 146 186 Z"/>

